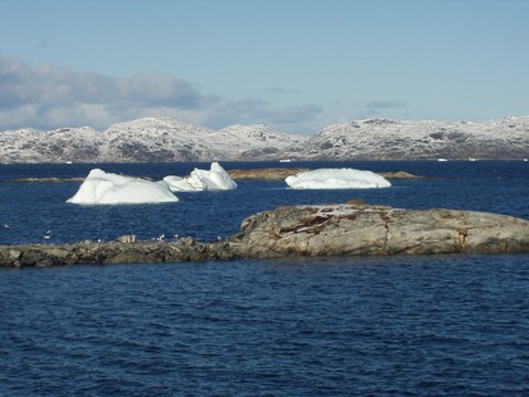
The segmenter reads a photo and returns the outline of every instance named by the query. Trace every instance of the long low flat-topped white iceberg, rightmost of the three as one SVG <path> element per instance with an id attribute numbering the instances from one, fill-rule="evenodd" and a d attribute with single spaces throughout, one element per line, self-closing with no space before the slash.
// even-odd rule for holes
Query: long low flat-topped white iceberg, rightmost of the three
<path id="1" fill-rule="evenodd" d="M 319 169 L 288 176 L 293 189 L 373 189 L 390 187 L 391 183 L 371 171 L 354 169 Z"/>

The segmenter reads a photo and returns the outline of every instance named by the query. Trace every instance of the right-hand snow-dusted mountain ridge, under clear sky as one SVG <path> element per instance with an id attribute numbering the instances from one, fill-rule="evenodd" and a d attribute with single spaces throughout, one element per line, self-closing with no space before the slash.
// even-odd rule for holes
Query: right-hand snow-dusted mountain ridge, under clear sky
<path id="1" fill-rule="evenodd" d="M 324 128 L 291 158 L 304 160 L 522 159 L 529 116 L 487 122 L 369 119 Z"/>

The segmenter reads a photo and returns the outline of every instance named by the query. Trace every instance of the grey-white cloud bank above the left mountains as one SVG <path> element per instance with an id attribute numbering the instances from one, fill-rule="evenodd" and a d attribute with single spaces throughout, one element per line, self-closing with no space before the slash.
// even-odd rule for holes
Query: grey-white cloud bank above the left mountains
<path id="1" fill-rule="evenodd" d="M 260 98 L 231 100 L 204 94 L 171 74 L 110 77 L 52 65 L 33 68 L 2 55 L 0 93 L 0 129 L 90 126 L 102 130 L 123 120 L 170 116 L 214 128 L 264 122 L 306 132 L 302 128 L 323 112 L 313 104 L 276 108 Z"/>

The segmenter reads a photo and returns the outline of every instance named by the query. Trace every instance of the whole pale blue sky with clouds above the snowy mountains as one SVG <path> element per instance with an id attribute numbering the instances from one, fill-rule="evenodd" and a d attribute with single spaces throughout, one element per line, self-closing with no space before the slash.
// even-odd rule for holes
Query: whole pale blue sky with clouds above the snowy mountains
<path id="1" fill-rule="evenodd" d="M 527 0 L 0 0 L 0 130 L 529 115 Z"/>

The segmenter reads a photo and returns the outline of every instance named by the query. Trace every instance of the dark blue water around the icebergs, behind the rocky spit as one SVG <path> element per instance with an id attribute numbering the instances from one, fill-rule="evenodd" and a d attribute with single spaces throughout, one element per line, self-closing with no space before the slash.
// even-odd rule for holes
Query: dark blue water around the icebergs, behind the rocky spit
<path id="1" fill-rule="evenodd" d="M 425 180 L 392 181 L 391 189 L 296 191 L 284 182 L 239 182 L 228 192 L 179 193 L 179 203 L 160 205 L 78 206 L 67 204 L 80 182 L 1 183 L 0 244 L 73 243 L 115 239 L 134 234 L 140 239 L 194 236 L 210 242 L 239 230 L 240 222 L 259 211 L 284 204 L 344 203 L 361 198 L 370 204 L 406 208 L 489 211 L 529 218 L 529 163 L 510 162 L 346 162 L 346 163 L 223 163 L 226 169 L 260 167 L 353 167 L 373 171 L 408 171 Z M 186 175 L 209 164 L 48 164 L 0 165 L 0 181 L 18 178 L 86 176 L 91 168 L 161 180 Z"/>

